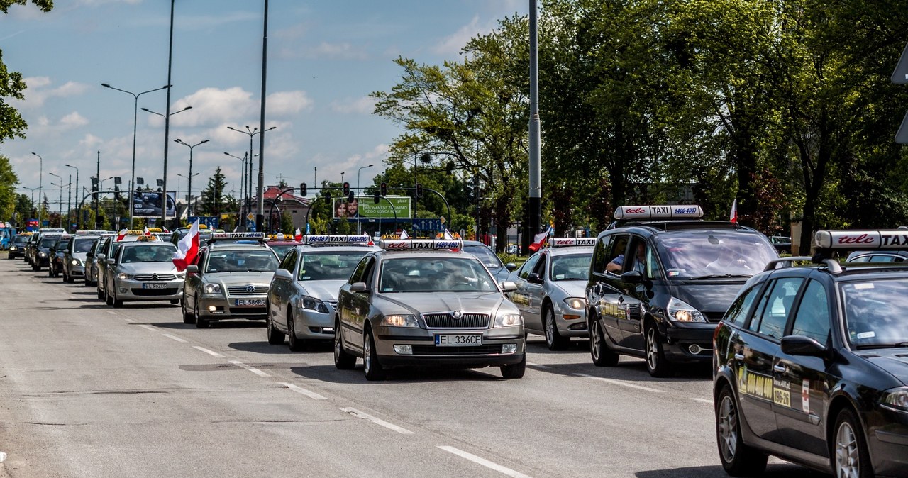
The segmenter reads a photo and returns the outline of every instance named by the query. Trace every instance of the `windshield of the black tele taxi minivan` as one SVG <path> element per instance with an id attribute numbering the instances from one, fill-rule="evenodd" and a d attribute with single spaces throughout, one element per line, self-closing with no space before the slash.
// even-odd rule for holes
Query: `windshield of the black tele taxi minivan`
<path id="1" fill-rule="evenodd" d="M 684 230 L 660 234 L 656 243 L 670 279 L 750 277 L 778 258 L 775 248 L 755 232 Z"/>

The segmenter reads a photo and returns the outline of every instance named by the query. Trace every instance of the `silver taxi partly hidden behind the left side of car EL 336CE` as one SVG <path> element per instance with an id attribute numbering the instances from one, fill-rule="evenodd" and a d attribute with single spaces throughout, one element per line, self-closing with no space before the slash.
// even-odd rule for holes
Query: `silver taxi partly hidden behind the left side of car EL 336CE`
<path id="1" fill-rule="evenodd" d="M 268 289 L 268 343 L 287 336 L 294 352 L 334 339 L 338 290 L 360 259 L 379 249 L 369 236 L 304 236 L 302 243 L 283 256 Z"/>

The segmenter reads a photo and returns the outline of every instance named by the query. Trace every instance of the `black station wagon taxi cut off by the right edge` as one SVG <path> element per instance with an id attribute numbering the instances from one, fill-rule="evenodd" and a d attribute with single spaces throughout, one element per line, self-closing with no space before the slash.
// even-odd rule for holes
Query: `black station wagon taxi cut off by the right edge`
<path id="1" fill-rule="evenodd" d="M 835 476 L 908 476 L 908 266 L 833 259 L 908 249 L 904 230 L 820 230 L 775 259 L 716 328 L 716 440 L 731 475 L 775 455 Z M 792 267 L 794 261 L 809 266 Z"/>

